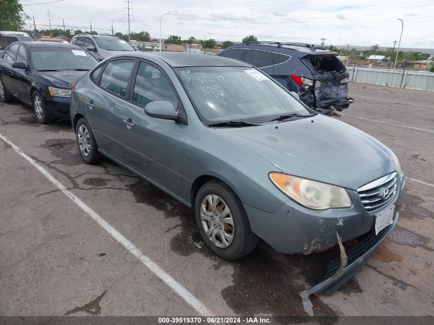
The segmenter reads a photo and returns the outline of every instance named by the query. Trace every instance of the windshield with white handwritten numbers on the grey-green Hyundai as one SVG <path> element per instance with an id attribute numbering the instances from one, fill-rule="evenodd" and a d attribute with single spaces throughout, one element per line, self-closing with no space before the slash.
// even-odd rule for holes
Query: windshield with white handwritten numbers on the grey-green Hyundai
<path id="1" fill-rule="evenodd" d="M 270 122 L 311 113 L 268 75 L 251 67 L 174 69 L 203 122 Z"/>

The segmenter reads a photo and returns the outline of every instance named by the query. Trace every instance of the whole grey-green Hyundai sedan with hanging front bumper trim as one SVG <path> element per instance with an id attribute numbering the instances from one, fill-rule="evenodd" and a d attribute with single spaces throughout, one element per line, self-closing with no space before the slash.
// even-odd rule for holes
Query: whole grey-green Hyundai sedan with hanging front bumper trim
<path id="1" fill-rule="evenodd" d="M 356 239 L 322 291 L 348 281 L 397 223 L 405 177 L 393 152 L 249 64 L 116 55 L 77 83 L 70 103 L 82 159 L 106 156 L 194 209 L 203 241 L 224 259 L 259 238 L 287 254 L 336 244 L 345 254 L 342 242 Z"/>

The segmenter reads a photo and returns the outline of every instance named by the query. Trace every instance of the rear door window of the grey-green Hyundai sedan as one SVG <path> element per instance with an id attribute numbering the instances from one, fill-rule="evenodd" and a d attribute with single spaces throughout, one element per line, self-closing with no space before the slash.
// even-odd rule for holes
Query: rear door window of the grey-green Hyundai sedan
<path id="1" fill-rule="evenodd" d="M 120 97 L 125 97 L 131 70 L 135 60 L 120 59 L 107 63 L 100 86 Z"/>

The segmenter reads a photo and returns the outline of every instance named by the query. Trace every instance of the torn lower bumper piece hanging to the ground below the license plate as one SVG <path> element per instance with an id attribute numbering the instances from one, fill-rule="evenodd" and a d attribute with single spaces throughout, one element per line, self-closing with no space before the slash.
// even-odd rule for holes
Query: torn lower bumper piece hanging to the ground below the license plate
<path id="1" fill-rule="evenodd" d="M 359 242 L 345 251 L 342 245 L 341 238 L 338 237 L 339 248 L 341 248 L 341 256 L 332 259 L 329 263 L 326 280 L 313 286 L 312 288 L 299 293 L 303 302 L 305 311 L 313 316 L 312 303 L 309 299 L 311 294 L 332 294 L 337 289 L 347 283 L 362 267 L 366 264 L 369 258 L 375 253 L 383 240 L 390 234 L 393 227 L 397 224 L 399 213 L 395 215 L 393 223 L 384 228 L 378 235 L 375 236 L 375 231 L 369 232 L 362 238 L 358 238 Z"/>

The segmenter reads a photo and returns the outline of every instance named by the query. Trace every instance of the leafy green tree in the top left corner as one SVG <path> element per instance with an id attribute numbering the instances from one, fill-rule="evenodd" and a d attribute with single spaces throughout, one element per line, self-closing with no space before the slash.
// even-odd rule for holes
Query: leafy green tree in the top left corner
<path id="1" fill-rule="evenodd" d="M 21 31 L 25 26 L 25 20 L 29 18 L 18 0 L 0 1 L 0 26 L 3 30 Z"/>

